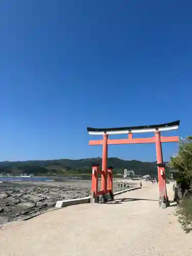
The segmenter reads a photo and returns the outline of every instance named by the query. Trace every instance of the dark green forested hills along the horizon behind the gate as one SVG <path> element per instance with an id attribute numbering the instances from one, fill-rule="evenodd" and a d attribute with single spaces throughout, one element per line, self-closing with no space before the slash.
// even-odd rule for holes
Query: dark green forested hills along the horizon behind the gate
<path id="1" fill-rule="evenodd" d="M 101 158 L 88 159 L 58 159 L 58 160 L 33 160 L 17 162 L 0 162 L 0 174 L 19 175 L 28 173 L 34 175 L 91 175 L 91 167 L 94 164 L 101 165 Z M 125 161 L 119 158 L 111 157 L 108 165 L 114 167 L 114 173 L 123 173 L 123 169 L 134 170 L 139 175 L 157 175 L 156 162 L 141 162 L 137 160 Z"/>

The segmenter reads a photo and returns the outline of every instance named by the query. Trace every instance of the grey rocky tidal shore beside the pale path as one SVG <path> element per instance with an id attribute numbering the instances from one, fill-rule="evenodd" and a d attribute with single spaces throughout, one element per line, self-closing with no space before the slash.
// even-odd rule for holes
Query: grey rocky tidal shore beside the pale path
<path id="1" fill-rule="evenodd" d="M 115 183 L 114 191 L 119 189 L 124 188 L 120 188 L 118 183 Z M 7 222 L 24 220 L 53 208 L 57 200 L 90 196 L 90 190 L 91 180 L 2 182 L 0 183 L 0 227 Z"/>

